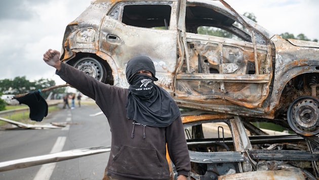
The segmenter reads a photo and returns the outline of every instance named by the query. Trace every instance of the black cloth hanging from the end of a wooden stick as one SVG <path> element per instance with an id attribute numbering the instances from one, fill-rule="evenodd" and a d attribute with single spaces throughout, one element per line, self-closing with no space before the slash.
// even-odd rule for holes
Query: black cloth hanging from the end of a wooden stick
<path id="1" fill-rule="evenodd" d="M 28 105 L 30 108 L 30 119 L 33 121 L 42 121 L 48 115 L 48 104 L 41 96 L 39 91 L 33 91 L 27 95 L 16 98 L 20 104 Z"/>

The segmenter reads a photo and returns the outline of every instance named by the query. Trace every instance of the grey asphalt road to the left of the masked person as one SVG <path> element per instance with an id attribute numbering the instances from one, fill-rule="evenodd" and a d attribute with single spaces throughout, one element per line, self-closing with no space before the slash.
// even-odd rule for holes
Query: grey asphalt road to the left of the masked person
<path id="1" fill-rule="evenodd" d="M 41 122 L 67 122 L 61 129 L 0 130 L 0 162 L 95 146 L 110 146 L 111 133 L 96 105 L 48 114 Z M 102 179 L 109 153 L 0 172 L 2 180 Z"/>

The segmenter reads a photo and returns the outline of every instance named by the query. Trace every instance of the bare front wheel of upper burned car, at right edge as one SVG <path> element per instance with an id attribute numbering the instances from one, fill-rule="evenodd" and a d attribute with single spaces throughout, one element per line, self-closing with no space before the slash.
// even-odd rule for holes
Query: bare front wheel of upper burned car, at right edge
<path id="1" fill-rule="evenodd" d="M 303 136 L 319 133 L 319 102 L 311 96 L 297 98 L 289 106 L 287 119 L 293 131 Z"/>

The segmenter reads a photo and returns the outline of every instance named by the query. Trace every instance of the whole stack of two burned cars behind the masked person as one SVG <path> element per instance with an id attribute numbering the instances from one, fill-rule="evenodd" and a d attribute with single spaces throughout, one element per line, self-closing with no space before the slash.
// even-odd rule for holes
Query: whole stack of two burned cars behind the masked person
<path id="1" fill-rule="evenodd" d="M 184 110 L 192 178 L 319 177 L 319 43 L 283 39 L 222 0 L 96 1 L 66 27 L 61 60 L 104 83 L 127 87 L 138 55 Z M 296 134 L 269 135 L 261 121 Z"/>

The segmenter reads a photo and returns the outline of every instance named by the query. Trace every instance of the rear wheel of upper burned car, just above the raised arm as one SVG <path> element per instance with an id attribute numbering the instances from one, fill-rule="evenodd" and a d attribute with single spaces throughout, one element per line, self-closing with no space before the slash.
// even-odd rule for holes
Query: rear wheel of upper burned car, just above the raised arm
<path id="1" fill-rule="evenodd" d="M 102 81 L 106 74 L 103 65 L 98 60 L 91 57 L 79 59 L 73 66 L 99 81 Z"/>

